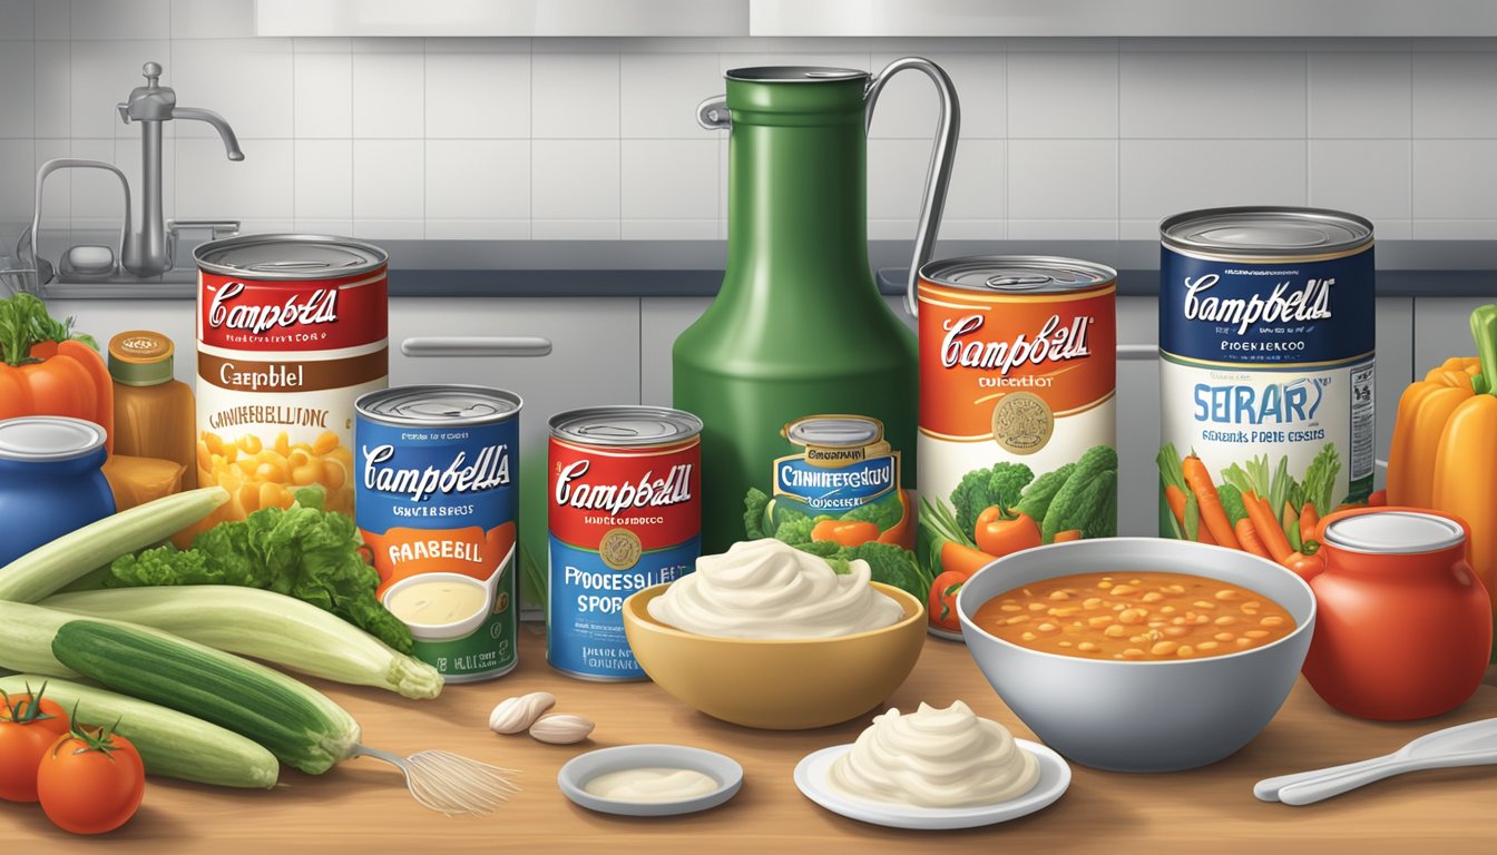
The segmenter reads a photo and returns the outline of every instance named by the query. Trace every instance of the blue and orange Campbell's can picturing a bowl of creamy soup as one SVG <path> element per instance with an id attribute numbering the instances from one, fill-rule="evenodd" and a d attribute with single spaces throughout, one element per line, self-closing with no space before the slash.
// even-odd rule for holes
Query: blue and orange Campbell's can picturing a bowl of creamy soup
<path id="1" fill-rule="evenodd" d="M 358 526 L 376 591 L 448 683 L 518 662 L 519 395 L 397 386 L 358 403 Z"/>

